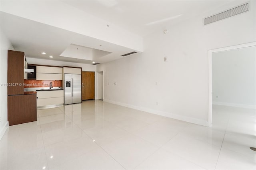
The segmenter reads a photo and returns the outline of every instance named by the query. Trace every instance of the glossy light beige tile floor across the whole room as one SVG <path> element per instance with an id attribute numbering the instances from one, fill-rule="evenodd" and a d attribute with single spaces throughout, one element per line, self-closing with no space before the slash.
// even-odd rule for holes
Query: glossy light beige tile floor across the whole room
<path id="1" fill-rule="evenodd" d="M 103 101 L 38 110 L 10 126 L 0 169 L 256 169 L 254 109 L 213 106 L 204 127 Z"/>

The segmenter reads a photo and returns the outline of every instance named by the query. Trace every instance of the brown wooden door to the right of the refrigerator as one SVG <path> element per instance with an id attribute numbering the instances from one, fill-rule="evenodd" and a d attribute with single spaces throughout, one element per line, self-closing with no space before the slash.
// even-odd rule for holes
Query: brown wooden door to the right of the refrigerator
<path id="1" fill-rule="evenodd" d="M 82 100 L 95 99 L 95 72 L 82 71 Z"/>

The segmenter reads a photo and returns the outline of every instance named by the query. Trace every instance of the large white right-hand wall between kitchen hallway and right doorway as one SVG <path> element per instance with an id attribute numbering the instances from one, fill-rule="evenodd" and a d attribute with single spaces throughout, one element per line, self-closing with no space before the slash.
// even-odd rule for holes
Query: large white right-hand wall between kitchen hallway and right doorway
<path id="1" fill-rule="evenodd" d="M 143 53 L 98 65 L 104 100 L 208 125 L 208 50 L 256 41 L 255 1 L 249 12 L 206 26 L 202 20 L 238 3 L 170 26 L 167 34 L 159 29 L 144 38 Z"/>

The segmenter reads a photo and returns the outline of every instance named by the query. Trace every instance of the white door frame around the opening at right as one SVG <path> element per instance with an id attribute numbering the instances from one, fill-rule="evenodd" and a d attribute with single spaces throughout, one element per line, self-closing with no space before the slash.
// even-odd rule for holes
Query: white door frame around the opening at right
<path id="1" fill-rule="evenodd" d="M 256 46 L 256 42 L 208 50 L 208 127 L 212 127 L 212 54 L 252 46 Z"/>

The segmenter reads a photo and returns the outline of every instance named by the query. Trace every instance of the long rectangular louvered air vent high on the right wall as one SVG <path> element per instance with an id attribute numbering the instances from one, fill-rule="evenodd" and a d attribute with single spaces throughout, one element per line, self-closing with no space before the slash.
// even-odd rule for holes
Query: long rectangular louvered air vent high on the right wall
<path id="1" fill-rule="evenodd" d="M 226 10 L 224 12 L 221 12 L 219 14 L 204 18 L 204 25 L 210 24 L 212 22 L 216 22 L 219 20 L 223 20 L 225 18 L 228 18 L 230 16 L 234 16 L 237 14 L 241 14 L 243 12 L 247 12 L 249 10 L 249 3 L 240 5 L 236 8 L 232 8 L 230 10 Z"/>

